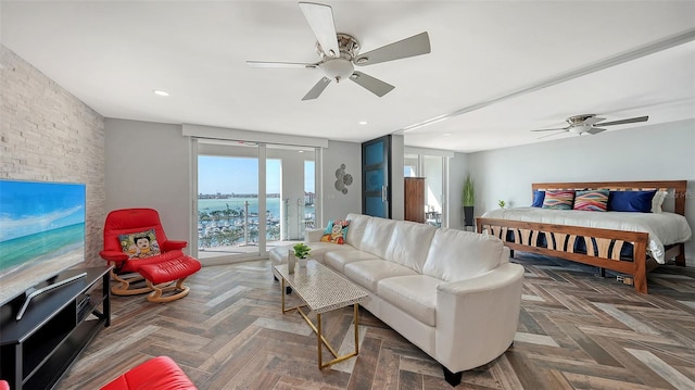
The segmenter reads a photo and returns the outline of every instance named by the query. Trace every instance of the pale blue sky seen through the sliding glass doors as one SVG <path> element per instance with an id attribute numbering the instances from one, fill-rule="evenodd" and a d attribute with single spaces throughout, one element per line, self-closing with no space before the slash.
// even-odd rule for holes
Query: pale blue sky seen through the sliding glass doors
<path id="1" fill-rule="evenodd" d="M 307 166 L 311 165 L 307 173 Z M 314 192 L 314 171 L 305 164 L 304 188 Z M 268 193 L 280 192 L 280 160 L 267 160 L 266 188 Z M 251 158 L 198 158 L 199 193 L 257 193 L 258 161 Z"/>

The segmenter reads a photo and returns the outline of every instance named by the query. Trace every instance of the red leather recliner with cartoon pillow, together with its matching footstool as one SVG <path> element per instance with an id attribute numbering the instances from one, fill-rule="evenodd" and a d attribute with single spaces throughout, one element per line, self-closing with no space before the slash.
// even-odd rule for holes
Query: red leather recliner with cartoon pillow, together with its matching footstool
<path id="1" fill-rule="evenodd" d="M 200 262 L 186 255 L 186 241 L 169 240 L 162 228 L 160 214 L 153 209 L 114 210 L 104 223 L 104 249 L 101 257 L 114 265 L 111 277 L 118 281 L 111 288 L 116 295 L 152 292 L 155 302 L 182 298 L 188 288 L 184 279 L 201 267 Z M 157 253 L 154 254 L 153 253 Z M 147 286 L 131 286 L 147 278 Z M 179 279 L 181 293 L 162 298 L 162 285 Z M 156 286 L 155 286 L 156 285 Z M 166 289 L 166 288 L 164 288 Z"/>

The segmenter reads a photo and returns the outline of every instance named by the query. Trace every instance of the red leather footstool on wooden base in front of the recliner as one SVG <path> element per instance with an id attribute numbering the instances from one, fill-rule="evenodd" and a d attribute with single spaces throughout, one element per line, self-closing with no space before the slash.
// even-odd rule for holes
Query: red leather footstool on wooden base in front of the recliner
<path id="1" fill-rule="evenodd" d="M 190 287 L 184 286 L 187 277 L 195 274 L 201 268 L 197 259 L 184 255 L 178 259 L 162 263 L 144 264 L 138 268 L 138 273 L 147 279 L 152 292 L 148 295 L 150 302 L 170 302 L 188 295 Z M 163 285 L 177 280 L 176 285 Z M 164 292 L 174 291 L 174 294 L 163 295 Z"/>

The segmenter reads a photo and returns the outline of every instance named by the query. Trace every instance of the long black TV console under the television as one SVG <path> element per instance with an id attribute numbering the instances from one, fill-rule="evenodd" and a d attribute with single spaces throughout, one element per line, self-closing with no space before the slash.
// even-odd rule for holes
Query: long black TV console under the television
<path id="1" fill-rule="evenodd" d="M 36 295 L 21 320 L 16 316 L 24 295 L 0 307 L 0 378 L 11 389 L 51 389 L 97 332 L 111 325 L 110 271 L 111 266 L 68 269 L 36 286 L 87 273 Z"/>

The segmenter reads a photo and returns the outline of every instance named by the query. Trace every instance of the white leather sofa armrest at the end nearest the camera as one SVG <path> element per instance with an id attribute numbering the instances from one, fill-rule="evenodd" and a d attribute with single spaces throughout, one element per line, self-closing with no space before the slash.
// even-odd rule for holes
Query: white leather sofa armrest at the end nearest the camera
<path id="1" fill-rule="evenodd" d="M 519 323 L 523 266 L 501 264 L 437 288 L 437 360 L 452 373 L 478 367 L 509 348 Z"/>

